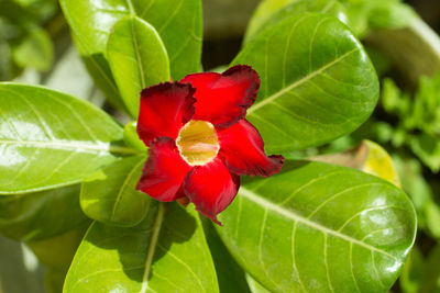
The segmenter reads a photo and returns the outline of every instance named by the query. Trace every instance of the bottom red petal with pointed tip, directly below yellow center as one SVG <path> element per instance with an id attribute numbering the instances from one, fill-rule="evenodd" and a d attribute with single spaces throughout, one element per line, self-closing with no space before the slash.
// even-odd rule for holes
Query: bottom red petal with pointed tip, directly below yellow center
<path id="1" fill-rule="evenodd" d="M 184 190 L 197 211 L 212 218 L 232 202 L 240 188 L 240 177 L 229 172 L 217 157 L 205 166 L 195 167 L 185 178 Z"/>

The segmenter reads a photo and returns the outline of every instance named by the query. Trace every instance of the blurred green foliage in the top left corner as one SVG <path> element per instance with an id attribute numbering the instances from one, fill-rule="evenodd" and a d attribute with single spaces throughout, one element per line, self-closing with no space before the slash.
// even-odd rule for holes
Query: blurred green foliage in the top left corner
<path id="1" fill-rule="evenodd" d="M 57 12 L 56 0 L 0 0 L 0 81 L 25 67 L 51 68 L 54 48 L 45 25 Z"/>

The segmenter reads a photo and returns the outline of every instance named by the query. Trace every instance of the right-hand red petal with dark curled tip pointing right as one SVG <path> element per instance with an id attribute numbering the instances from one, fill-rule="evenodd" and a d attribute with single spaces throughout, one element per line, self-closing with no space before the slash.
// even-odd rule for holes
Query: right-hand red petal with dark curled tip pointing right
<path id="1" fill-rule="evenodd" d="M 258 131 L 246 120 L 240 120 L 231 127 L 219 131 L 217 135 L 220 154 L 231 172 L 268 177 L 282 169 L 283 156 L 267 157 Z"/>

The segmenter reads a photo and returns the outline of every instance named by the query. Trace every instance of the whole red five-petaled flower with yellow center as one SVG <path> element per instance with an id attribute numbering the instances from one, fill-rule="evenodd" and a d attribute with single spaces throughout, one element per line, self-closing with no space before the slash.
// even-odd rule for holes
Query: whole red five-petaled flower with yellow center
<path id="1" fill-rule="evenodd" d="M 138 134 L 150 157 L 138 190 L 162 202 L 187 198 L 220 224 L 217 214 L 234 199 L 241 174 L 268 177 L 283 167 L 244 119 L 258 88 L 258 75 L 239 65 L 144 89 Z"/>

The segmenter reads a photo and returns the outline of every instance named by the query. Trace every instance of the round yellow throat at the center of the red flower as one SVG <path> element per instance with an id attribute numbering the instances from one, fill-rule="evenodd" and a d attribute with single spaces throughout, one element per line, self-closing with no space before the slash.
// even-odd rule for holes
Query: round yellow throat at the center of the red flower
<path id="1" fill-rule="evenodd" d="M 210 162 L 220 149 L 216 128 L 211 123 L 200 120 L 191 120 L 185 124 L 176 144 L 180 156 L 190 166 Z"/>

